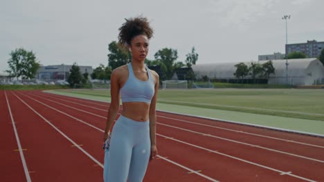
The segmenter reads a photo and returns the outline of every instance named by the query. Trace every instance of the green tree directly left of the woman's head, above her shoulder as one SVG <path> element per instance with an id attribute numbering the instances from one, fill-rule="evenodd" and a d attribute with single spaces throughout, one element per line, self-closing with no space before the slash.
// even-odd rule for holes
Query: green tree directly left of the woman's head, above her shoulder
<path id="1" fill-rule="evenodd" d="M 108 56 L 108 65 L 111 70 L 118 68 L 120 65 L 125 65 L 128 62 L 129 52 L 119 48 L 116 41 L 112 41 L 108 45 L 109 54 Z"/>

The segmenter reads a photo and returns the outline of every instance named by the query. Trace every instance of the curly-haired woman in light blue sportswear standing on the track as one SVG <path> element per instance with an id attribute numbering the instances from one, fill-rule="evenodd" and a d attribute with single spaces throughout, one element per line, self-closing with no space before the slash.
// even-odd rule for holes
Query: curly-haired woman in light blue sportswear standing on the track
<path id="1" fill-rule="evenodd" d="M 159 75 L 144 64 L 153 35 L 144 17 L 126 19 L 119 28 L 118 41 L 132 54 L 132 62 L 111 74 L 111 105 L 104 141 L 119 110 L 123 112 L 111 132 L 109 152 L 105 152 L 105 182 L 143 181 L 149 160 L 156 157 L 156 95 Z"/>

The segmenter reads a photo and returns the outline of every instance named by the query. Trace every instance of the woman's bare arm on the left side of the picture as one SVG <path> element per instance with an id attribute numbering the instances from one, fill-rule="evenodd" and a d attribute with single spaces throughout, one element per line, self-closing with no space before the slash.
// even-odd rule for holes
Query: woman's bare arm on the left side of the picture
<path id="1" fill-rule="evenodd" d="M 111 103 L 107 115 L 104 142 L 110 135 L 111 125 L 114 123 L 119 110 L 119 98 L 120 98 L 120 94 L 119 94 L 120 88 L 119 88 L 119 79 L 118 79 L 119 77 L 120 77 L 120 70 L 117 68 L 111 73 L 111 79 L 110 79 Z"/>

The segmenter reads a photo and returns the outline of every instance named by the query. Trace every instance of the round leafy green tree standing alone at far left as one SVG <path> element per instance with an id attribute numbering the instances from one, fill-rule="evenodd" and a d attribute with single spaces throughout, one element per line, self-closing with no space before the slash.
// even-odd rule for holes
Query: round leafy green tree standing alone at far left
<path id="1" fill-rule="evenodd" d="M 10 77 L 21 77 L 21 79 L 33 79 L 39 68 L 33 51 L 26 51 L 24 48 L 16 49 L 10 53 L 8 60 L 10 70 L 6 70 Z"/>

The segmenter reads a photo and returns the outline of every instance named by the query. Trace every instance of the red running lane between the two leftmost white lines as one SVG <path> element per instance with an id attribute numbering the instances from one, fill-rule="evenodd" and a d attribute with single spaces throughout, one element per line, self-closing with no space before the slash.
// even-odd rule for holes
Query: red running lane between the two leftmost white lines
<path id="1" fill-rule="evenodd" d="M 32 181 L 100 181 L 102 168 L 8 92 Z M 43 108 L 46 110 L 46 108 Z"/>

